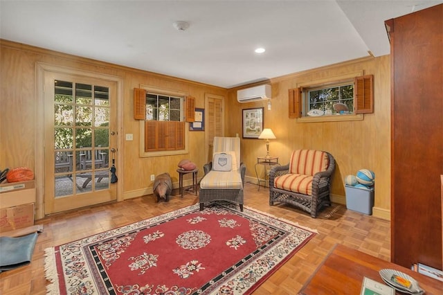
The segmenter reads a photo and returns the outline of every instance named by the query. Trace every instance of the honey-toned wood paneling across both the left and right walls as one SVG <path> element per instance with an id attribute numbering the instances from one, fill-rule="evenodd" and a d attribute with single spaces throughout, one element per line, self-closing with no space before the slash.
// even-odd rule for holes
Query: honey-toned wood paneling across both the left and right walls
<path id="1" fill-rule="evenodd" d="M 223 89 L 147 71 L 129 69 L 83 57 L 75 57 L 42 48 L 0 40 L 0 169 L 27 166 L 35 168 L 35 125 L 37 103 L 35 65 L 37 62 L 67 66 L 123 78 L 123 134 L 134 134 L 134 141 L 123 141 L 123 196 L 119 199 L 138 197 L 152 192 L 150 175 L 170 172 L 177 182 L 177 163 L 191 159 L 201 168 L 203 176 L 206 155 L 204 132 L 189 132 L 189 154 L 172 157 L 139 157 L 140 124 L 133 116 L 133 89 L 140 84 L 183 91 L 196 98 L 196 107 L 204 108 L 206 93 L 226 97 L 225 135 L 242 137 L 242 109 L 264 107 L 264 126 L 273 129 L 277 139 L 271 141 L 270 152 L 280 157 L 280 163 L 289 161 L 296 148 L 327 150 L 336 158 L 337 169 L 332 182 L 336 199 L 344 199 L 343 179 L 360 168 L 370 168 L 376 174 L 374 215 L 389 218 L 390 210 L 390 70 L 389 57 L 369 58 L 345 62 L 336 66 L 295 73 L 271 79 L 272 109 L 266 102 L 239 104 L 237 89 Z M 326 123 L 296 123 L 287 114 L 288 89 L 300 82 L 322 80 L 327 77 L 363 71 L 374 75 L 374 114 L 364 115 L 364 120 Z M 246 163 L 246 175 L 255 179 L 256 157 L 266 152 L 264 141 L 242 138 L 242 160 Z M 36 175 L 36 181 L 41 176 Z M 151 190 L 149 189 L 151 188 Z M 37 209 L 43 204 L 37 204 Z"/>

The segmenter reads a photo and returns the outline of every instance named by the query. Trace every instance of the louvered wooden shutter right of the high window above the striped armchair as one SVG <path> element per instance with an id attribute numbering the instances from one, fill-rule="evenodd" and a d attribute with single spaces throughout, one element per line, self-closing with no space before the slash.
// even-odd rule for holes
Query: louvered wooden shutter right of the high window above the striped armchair
<path id="1" fill-rule="evenodd" d="M 373 75 L 354 78 L 354 112 L 369 114 L 374 112 Z"/>

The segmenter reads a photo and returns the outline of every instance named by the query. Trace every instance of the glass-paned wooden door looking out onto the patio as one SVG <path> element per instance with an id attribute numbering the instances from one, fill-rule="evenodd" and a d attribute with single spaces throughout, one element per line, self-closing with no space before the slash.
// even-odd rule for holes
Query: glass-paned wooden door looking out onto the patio
<path id="1" fill-rule="evenodd" d="M 45 214 L 115 200 L 115 83 L 64 75 L 46 81 Z"/>

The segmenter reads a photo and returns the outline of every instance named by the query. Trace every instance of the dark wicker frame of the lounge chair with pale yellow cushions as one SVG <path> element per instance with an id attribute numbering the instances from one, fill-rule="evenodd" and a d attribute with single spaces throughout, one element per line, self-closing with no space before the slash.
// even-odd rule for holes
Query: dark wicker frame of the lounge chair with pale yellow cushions
<path id="1" fill-rule="evenodd" d="M 203 166 L 205 175 L 207 175 L 213 167 L 213 162 L 206 163 Z M 229 172 L 229 173 L 232 173 Z M 214 201 L 227 201 L 239 204 L 240 211 L 243 212 L 243 187 L 244 187 L 244 175 L 246 174 L 246 166 L 243 163 L 240 163 L 239 173 L 242 177 L 242 188 L 241 189 L 233 189 L 233 188 L 200 188 L 199 194 L 199 202 L 200 202 L 200 211 L 204 209 L 204 204 L 206 202 L 214 202 Z"/>

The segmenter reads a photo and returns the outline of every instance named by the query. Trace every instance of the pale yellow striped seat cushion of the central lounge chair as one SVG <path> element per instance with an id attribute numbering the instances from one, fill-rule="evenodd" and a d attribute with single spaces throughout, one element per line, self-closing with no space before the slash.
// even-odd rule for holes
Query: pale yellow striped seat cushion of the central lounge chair
<path id="1" fill-rule="evenodd" d="M 211 170 L 200 181 L 200 188 L 243 188 L 242 175 L 237 171 Z"/>

